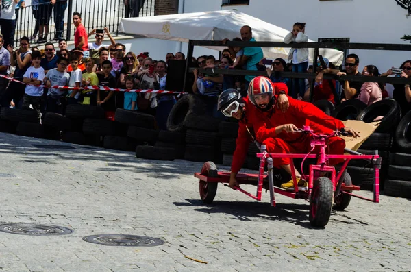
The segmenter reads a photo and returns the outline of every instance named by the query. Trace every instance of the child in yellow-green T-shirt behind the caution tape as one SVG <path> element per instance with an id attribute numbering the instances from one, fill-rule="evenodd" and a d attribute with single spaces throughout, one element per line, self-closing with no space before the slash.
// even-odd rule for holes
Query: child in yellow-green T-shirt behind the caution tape
<path id="1" fill-rule="evenodd" d="M 86 58 L 84 60 L 86 64 L 86 73 L 82 76 L 82 87 L 86 86 L 98 86 L 99 78 L 97 74 L 92 71 L 94 64 L 92 63 L 92 58 Z M 97 90 L 82 90 L 82 104 L 83 105 L 97 105 Z"/>

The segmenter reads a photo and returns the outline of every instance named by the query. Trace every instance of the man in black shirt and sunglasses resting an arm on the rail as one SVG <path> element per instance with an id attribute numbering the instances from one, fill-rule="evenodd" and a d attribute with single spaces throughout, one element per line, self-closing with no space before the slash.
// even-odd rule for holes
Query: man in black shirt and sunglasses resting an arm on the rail
<path id="1" fill-rule="evenodd" d="M 322 77 L 325 73 L 330 73 L 334 75 L 361 75 L 358 72 L 358 64 L 360 64 L 360 59 L 356 54 L 349 54 L 347 58 L 345 58 L 345 70 L 336 70 L 336 69 L 324 69 L 322 72 L 319 72 L 319 75 Z M 319 77 L 317 75 L 317 77 Z M 322 80 L 322 79 L 321 79 Z M 349 82 L 346 80 L 343 85 L 343 92 L 341 92 L 341 101 L 345 101 L 348 99 L 353 99 L 358 97 L 360 94 L 362 82 Z"/>

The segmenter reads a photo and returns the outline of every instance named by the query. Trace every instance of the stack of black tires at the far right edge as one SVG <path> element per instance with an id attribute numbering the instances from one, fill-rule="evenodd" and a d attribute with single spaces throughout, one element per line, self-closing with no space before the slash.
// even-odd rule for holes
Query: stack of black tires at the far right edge
<path id="1" fill-rule="evenodd" d="M 395 150 L 391 153 L 384 194 L 411 198 L 411 112 L 403 116 L 395 129 Z"/>

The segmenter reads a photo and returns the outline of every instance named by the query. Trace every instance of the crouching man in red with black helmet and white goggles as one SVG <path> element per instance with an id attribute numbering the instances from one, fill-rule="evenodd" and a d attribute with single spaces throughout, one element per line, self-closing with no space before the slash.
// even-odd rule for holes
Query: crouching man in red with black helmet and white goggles
<path id="1" fill-rule="evenodd" d="M 277 107 L 280 111 L 286 112 L 288 109 L 288 88 L 284 83 L 273 84 L 276 94 L 275 105 L 271 103 L 270 107 Z M 273 100 L 274 101 L 274 100 Z M 240 171 L 242 164 L 245 162 L 249 144 L 253 142 L 253 125 L 250 123 L 249 116 L 252 112 L 258 110 L 247 97 L 241 97 L 240 92 L 234 89 L 228 89 L 219 96 L 218 110 L 223 112 L 227 117 L 238 119 L 238 137 L 236 140 L 236 150 L 234 151 L 229 186 L 234 188 L 238 186 L 236 175 Z"/>

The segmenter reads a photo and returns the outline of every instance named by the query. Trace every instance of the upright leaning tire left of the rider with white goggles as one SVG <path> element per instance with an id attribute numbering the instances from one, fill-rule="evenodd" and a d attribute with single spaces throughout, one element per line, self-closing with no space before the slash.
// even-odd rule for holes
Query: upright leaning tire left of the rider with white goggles
<path id="1" fill-rule="evenodd" d="M 205 114 L 207 111 L 206 103 L 201 101 L 197 95 L 184 95 L 180 97 L 171 108 L 169 118 L 167 119 L 167 130 L 171 132 L 184 132 L 184 120 L 190 113 Z"/>

